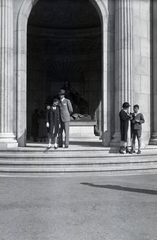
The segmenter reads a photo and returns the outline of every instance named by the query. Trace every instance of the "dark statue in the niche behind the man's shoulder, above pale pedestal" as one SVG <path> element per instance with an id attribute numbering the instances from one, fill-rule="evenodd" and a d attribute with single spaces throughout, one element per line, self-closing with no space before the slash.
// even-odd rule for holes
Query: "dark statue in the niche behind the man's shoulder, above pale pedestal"
<path id="1" fill-rule="evenodd" d="M 70 99 L 74 114 L 72 115 L 74 118 L 77 116 L 77 114 L 80 114 L 78 116 L 81 117 L 88 115 L 88 102 L 82 97 L 82 95 L 74 90 L 74 88 L 71 86 L 68 79 L 65 79 L 64 86 L 62 87 L 65 90 L 66 97 Z"/>

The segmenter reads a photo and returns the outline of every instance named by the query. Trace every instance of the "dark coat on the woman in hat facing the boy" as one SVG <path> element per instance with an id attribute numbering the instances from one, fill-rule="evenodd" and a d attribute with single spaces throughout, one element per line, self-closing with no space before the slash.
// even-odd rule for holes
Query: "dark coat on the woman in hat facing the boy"
<path id="1" fill-rule="evenodd" d="M 128 126 L 131 117 L 122 109 L 119 113 L 121 141 L 127 142 Z"/>

